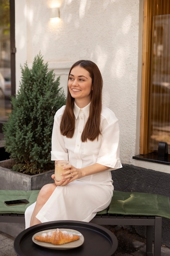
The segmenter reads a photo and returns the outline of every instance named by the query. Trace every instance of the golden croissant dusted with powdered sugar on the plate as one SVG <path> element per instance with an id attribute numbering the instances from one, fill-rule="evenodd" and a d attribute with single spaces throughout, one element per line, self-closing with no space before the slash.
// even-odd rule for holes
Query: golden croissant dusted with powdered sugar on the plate
<path id="1" fill-rule="evenodd" d="M 56 229 L 55 231 L 42 233 L 41 236 L 35 236 L 34 239 L 40 242 L 51 243 L 53 245 L 63 245 L 78 240 L 79 236 Z"/>

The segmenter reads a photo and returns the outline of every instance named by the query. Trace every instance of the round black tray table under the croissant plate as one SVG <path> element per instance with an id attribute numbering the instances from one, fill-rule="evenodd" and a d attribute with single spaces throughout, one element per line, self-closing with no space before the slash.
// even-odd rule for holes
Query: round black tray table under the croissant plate
<path id="1" fill-rule="evenodd" d="M 68 250 L 48 249 L 36 245 L 32 236 L 46 229 L 75 229 L 84 236 L 84 243 Z M 18 256 L 113 256 L 117 249 L 117 238 L 108 229 L 96 224 L 80 221 L 52 221 L 35 225 L 22 231 L 14 241 L 14 249 Z"/>

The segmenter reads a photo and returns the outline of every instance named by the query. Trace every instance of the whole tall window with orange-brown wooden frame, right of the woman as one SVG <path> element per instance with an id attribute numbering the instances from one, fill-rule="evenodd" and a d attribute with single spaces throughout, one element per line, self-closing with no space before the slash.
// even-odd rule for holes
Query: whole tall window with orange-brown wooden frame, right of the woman
<path id="1" fill-rule="evenodd" d="M 170 1 L 144 0 L 142 56 L 140 155 L 133 158 L 157 162 L 159 142 L 170 152 Z M 170 164 L 169 157 L 161 160 Z"/>

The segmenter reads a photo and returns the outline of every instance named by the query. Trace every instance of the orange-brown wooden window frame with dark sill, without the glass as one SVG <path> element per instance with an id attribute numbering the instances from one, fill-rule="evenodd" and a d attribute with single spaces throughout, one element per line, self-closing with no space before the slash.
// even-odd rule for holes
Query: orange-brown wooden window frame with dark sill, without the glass
<path id="1" fill-rule="evenodd" d="M 158 150 L 153 151 L 149 145 L 149 104 L 152 58 L 152 23 L 156 15 L 170 14 L 170 5 L 166 8 L 166 0 L 144 0 L 143 9 L 143 40 L 142 40 L 142 70 L 141 70 L 141 120 L 139 155 L 133 159 L 170 165 L 170 154 L 167 143 L 159 142 Z M 160 9 L 159 9 L 160 8 Z"/>

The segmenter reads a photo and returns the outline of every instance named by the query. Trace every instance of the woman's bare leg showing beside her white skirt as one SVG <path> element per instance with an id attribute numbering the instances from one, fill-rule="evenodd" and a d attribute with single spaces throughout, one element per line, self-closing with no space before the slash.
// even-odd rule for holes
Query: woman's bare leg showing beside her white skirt
<path id="1" fill-rule="evenodd" d="M 30 227 L 40 224 L 40 220 L 38 220 L 35 216 L 38 214 L 40 209 L 44 206 L 46 201 L 50 198 L 53 191 L 56 189 L 56 185 L 54 183 L 46 184 L 42 187 L 40 190 L 40 193 L 38 194 L 37 202 L 35 204 L 35 208 L 33 210 L 33 214 L 31 216 L 31 222 Z"/>

